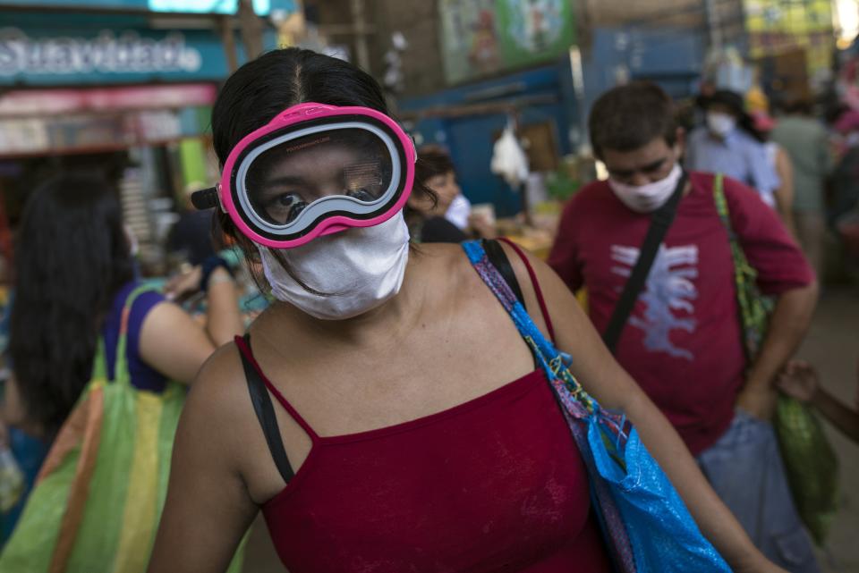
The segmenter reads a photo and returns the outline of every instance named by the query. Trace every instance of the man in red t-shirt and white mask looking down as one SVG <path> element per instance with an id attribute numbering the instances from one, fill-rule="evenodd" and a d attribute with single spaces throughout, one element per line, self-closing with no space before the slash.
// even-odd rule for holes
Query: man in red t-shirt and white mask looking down
<path id="1" fill-rule="evenodd" d="M 684 133 L 670 98 L 647 83 L 600 97 L 590 132 L 609 180 L 591 183 L 566 206 L 549 265 L 573 291 L 585 288 L 591 320 L 605 332 L 651 213 L 682 179 Z M 725 179 L 732 227 L 761 291 L 777 298 L 760 355 L 746 364 L 733 259 L 713 182 L 712 174 L 689 173 L 615 354 L 761 551 L 785 569 L 818 571 L 768 423 L 774 379 L 808 327 L 816 282 L 778 215 L 757 192 Z"/>

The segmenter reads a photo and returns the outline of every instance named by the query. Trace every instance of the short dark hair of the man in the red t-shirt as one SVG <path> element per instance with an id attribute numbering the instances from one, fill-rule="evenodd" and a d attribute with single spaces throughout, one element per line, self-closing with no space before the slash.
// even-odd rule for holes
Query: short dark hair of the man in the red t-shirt
<path id="1" fill-rule="evenodd" d="M 634 151 L 658 138 L 673 147 L 676 126 L 671 97 L 648 81 L 609 89 L 593 104 L 588 121 L 591 146 L 597 157 L 605 149 Z"/>

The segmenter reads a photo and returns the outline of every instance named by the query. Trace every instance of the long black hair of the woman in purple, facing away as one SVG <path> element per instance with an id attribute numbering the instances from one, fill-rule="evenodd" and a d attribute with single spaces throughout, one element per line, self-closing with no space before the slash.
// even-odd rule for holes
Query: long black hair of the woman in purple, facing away
<path id="1" fill-rule="evenodd" d="M 92 376 L 103 320 L 132 257 L 116 190 L 82 173 L 45 182 L 15 250 L 9 354 L 30 421 L 53 434 Z"/>

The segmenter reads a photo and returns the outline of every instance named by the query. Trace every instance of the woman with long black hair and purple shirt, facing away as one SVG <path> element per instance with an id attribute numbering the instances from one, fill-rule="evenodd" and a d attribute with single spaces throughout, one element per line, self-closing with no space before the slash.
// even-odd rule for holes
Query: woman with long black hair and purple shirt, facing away
<path id="1" fill-rule="evenodd" d="M 17 241 L 5 411 L 8 423 L 52 436 L 89 382 L 99 339 L 109 377 L 123 305 L 140 282 L 119 198 L 100 179 L 67 174 L 34 191 Z M 134 300 L 125 358 L 136 388 L 191 383 L 206 358 L 242 332 L 231 275 L 213 265 L 205 280 L 205 326 L 157 291 Z"/>

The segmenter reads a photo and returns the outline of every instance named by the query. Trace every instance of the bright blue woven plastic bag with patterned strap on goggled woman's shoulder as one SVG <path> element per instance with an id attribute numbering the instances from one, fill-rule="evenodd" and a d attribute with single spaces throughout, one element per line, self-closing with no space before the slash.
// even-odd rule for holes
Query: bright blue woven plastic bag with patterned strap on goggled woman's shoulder
<path id="1" fill-rule="evenodd" d="M 570 357 L 540 333 L 481 244 L 468 241 L 463 249 L 532 347 L 562 405 L 615 567 L 624 573 L 729 572 L 634 427 L 584 391 L 569 370 Z"/>

